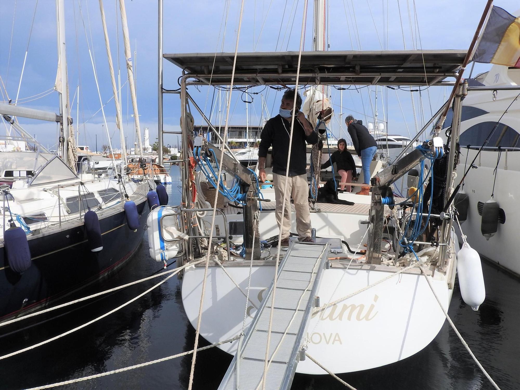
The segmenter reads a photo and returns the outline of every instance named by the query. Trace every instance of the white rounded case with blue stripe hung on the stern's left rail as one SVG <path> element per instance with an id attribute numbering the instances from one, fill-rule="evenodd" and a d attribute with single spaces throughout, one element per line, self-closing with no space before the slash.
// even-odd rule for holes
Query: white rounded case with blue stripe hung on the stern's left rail
<path id="1" fill-rule="evenodd" d="M 176 212 L 174 207 L 160 206 L 148 214 L 148 247 L 150 256 L 157 262 L 166 262 L 175 257 L 181 247 L 178 239 L 188 239 L 188 236 L 180 231 Z"/>

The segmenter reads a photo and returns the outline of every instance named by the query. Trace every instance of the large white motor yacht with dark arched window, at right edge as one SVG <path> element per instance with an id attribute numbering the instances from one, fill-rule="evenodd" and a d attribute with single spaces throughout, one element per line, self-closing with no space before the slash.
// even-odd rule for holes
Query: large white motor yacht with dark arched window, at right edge
<path id="1" fill-rule="evenodd" d="M 487 86 L 514 86 L 520 84 L 520 69 L 494 65 L 489 72 L 478 75 L 476 80 Z M 463 112 L 467 109 L 479 109 L 479 112 L 467 111 L 461 122 L 461 158 L 457 168 L 457 180 L 469 168 L 477 150 L 467 149 L 471 144 L 485 149 L 475 161 L 476 169 L 471 169 L 464 179 L 464 191 L 469 196 L 467 220 L 462 223 L 462 230 L 480 255 L 493 263 L 520 275 L 520 259 L 516 243 L 520 210 L 520 105 L 517 95 L 520 90 L 470 91 L 463 101 Z M 485 143 L 486 138 L 498 124 L 496 131 Z M 449 125 L 449 124 L 448 124 Z M 498 147 L 510 148 L 499 152 Z M 466 159 L 467 154 L 467 159 Z M 499 159 L 500 157 L 500 159 Z M 493 172 L 496 172 L 493 174 Z M 494 187 L 494 190 L 493 190 Z M 482 216 L 478 213 L 478 202 L 487 202 L 491 198 L 504 211 L 505 223 L 498 224 L 493 237 L 486 239 L 480 231 Z M 457 233 L 460 237 L 459 229 Z"/>

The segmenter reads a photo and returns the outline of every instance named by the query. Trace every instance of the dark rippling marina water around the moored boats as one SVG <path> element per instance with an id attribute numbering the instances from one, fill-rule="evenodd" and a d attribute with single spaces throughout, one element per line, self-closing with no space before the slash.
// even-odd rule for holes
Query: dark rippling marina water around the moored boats
<path id="1" fill-rule="evenodd" d="M 170 204 L 180 202 L 179 167 L 171 168 Z M 492 239 L 491 239 L 492 240 Z M 492 242 L 490 241 L 490 245 Z M 71 258 L 71 262 L 75 259 Z M 170 268 L 174 268 L 175 264 Z M 147 237 L 118 274 L 63 302 L 160 272 L 148 254 Z M 491 377 L 504 389 L 520 388 L 520 280 L 483 262 L 486 301 L 477 312 L 462 302 L 458 284 L 449 315 Z M 131 300 L 158 283 L 149 280 L 94 300 L 0 328 L 0 354 L 49 339 Z M 399 305 L 399 302 L 395 303 Z M 223 313 L 225 315 L 225 313 Z M 345 324 L 348 326 L 348 322 Z M 393 337 L 399 330 L 381 329 Z M 137 301 L 70 335 L 0 362 L 0 389 L 21 389 L 92 375 L 193 348 L 195 331 L 184 314 L 180 285 L 173 277 Z M 353 334 L 353 337 L 355 335 Z M 324 341 L 322 341 L 324 342 Z M 348 340 L 342 340 L 348 343 Z M 367 343 L 370 341 L 367 340 Z M 208 343 L 201 340 L 200 346 Z M 356 354 L 353 350 L 352 354 Z M 197 354 L 194 389 L 216 389 L 231 356 L 218 348 Z M 191 355 L 60 388 L 148 389 L 188 387 Z M 392 365 L 340 375 L 358 390 L 491 389 L 460 340 L 445 322 L 418 354 Z M 293 389 L 345 388 L 329 375 L 296 374 Z"/>

